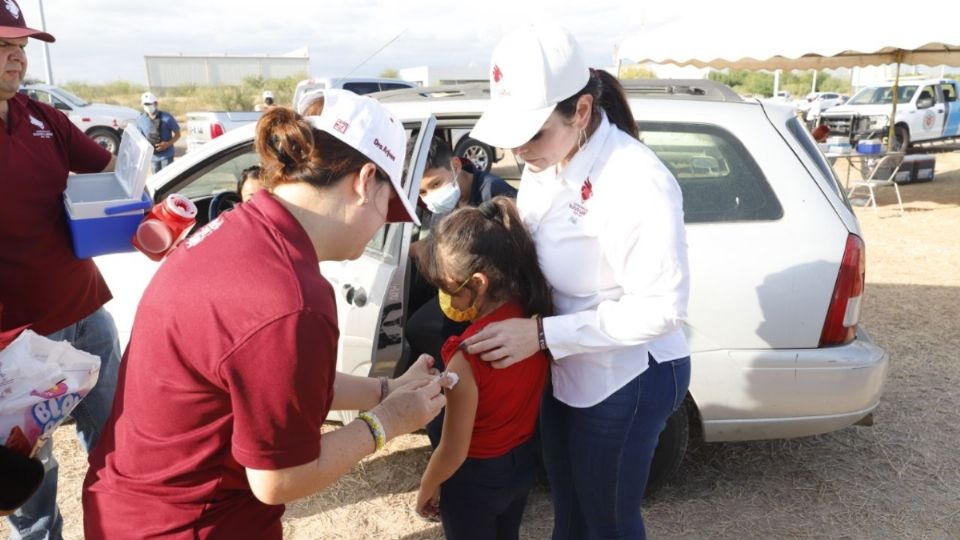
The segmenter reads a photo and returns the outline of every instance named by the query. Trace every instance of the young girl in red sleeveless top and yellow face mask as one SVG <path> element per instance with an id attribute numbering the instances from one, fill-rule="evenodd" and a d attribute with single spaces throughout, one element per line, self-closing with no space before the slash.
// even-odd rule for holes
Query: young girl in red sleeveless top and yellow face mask
<path id="1" fill-rule="evenodd" d="M 444 314 L 472 321 L 443 346 L 459 384 L 447 392 L 443 435 L 420 481 L 417 512 L 439 515 L 449 539 L 517 538 L 539 464 L 534 432 L 549 360 L 543 347 L 496 369 L 459 345 L 488 324 L 553 312 L 536 248 L 513 200 L 496 197 L 441 221 L 417 262 L 439 288 Z"/>

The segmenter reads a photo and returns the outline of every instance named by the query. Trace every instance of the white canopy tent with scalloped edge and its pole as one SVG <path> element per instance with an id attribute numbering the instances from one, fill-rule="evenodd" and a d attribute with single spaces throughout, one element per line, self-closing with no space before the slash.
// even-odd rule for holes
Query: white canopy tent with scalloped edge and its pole
<path id="1" fill-rule="evenodd" d="M 617 63 L 751 70 L 897 64 L 895 118 L 900 64 L 960 66 L 960 3 L 938 4 L 814 3 L 793 17 L 769 8 L 699 12 L 646 25 L 621 42 Z"/>

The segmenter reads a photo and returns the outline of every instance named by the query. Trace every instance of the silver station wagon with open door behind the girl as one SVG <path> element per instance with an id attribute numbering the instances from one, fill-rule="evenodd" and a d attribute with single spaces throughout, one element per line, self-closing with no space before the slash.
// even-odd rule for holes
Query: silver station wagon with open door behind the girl
<path id="1" fill-rule="evenodd" d="M 869 423 L 888 358 L 859 325 L 864 241 L 843 188 L 793 108 L 744 101 L 713 81 L 626 84 L 643 142 L 683 191 L 692 287 L 684 326 L 690 390 L 660 436 L 650 489 L 679 466 L 691 426 L 711 442 Z M 469 87 L 432 94 L 383 100 L 416 141 L 403 182 L 412 203 L 430 138 L 469 130 L 489 102 Z M 257 161 L 253 138 L 247 125 L 187 154 L 148 180 L 150 195 L 159 202 L 181 193 L 197 204 L 198 225 L 216 219 L 229 206 L 223 194 L 236 175 Z M 403 335 L 418 307 L 409 305 L 408 254 L 411 242 L 429 234 L 424 223 L 385 225 L 359 259 L 320 265 L 337 291 L 341 371 L 394 375 L 413 360 Z M 97 264 L 113 290 L 106 307 L 125 343 L 156 265 L 139 253 Z"/>

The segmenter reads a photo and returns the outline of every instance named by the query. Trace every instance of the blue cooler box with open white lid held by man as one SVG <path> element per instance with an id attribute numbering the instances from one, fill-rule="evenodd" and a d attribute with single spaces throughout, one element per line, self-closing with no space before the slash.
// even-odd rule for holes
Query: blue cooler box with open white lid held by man
<path id="1" fill-rule="evenodd" d="M 134 251 L 131 239 L 152 206 L 143 191 L 152 157 L 153 145 L 129 127 L 123 131 L 114 172 L 67 179 L 63 203 L 78 258 Z"/>

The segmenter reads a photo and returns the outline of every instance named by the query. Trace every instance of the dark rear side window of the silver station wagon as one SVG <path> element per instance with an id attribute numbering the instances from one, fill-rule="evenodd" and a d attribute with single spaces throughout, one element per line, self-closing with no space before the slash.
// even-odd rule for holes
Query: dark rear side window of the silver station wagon
<path id="1" fill-rule="evenodd" d="M 783 208 L 732 133 L 715 125 L 644 122 L 640 139 L 673 172 L 687 223 L 776 220 Z"/>

